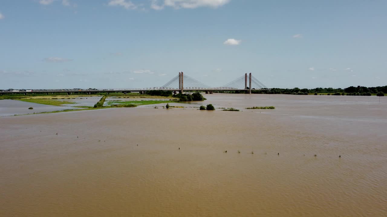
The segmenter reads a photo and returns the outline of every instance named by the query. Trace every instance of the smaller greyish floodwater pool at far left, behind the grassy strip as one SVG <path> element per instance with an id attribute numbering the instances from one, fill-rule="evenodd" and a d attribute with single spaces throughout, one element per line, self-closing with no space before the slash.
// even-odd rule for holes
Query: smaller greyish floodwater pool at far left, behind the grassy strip
<path id="1" fill-rule="evenodd" d="M 98 101 L 97 101 L 98 102 Z M 75 104 L 67 104 L 75 105 Z M 78 104 L 76 104 L 78 106 Z M 33 107 L 34 109 L 28 109 Z M 53 112 L 67 109 L 78 109 L 70 106 L 43 105 L 19 100 L 0 100 L 0 117 L 10 115 L 33 114 L 39 112 Z"/>

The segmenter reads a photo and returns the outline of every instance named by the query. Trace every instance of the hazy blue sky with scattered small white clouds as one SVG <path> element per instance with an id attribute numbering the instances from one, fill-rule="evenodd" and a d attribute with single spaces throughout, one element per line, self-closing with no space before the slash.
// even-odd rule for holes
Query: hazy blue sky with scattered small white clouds
<path id="1" fill-rule="evenodd" d="M 387 85 L 385 0 L 0 0 L 0 89 Z"/>

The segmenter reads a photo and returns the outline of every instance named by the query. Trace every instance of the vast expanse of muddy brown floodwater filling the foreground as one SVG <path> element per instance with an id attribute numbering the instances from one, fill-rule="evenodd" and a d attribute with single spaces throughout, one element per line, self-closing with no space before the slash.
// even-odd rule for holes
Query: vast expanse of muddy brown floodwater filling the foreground
<path id="1" fill-rule="evenodd" d="M 205 97 L 1 117 L 0 216 L 387 216 L 387 97 Z"/>

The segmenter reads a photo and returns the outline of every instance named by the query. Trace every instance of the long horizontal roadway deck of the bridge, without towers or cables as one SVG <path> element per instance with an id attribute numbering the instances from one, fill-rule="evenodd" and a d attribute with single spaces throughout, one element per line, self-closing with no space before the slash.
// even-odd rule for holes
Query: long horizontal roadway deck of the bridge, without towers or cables
<path id="1" fill-rule="evenodd" d="M 17 92 L 10 92 L 10 91 L 3 91 L 3 92 L 0 92 L 0 94 L 3 94 L 3 93 L 24 93 L 24 94 L 27 94 L 27 93 L 67 93 L 67 94 L 72 94 L 72 93 L 87 93 L 87 94 L 91 94 L 91 93 L 113 93 L 113 92 L 122 92 L 122 93 L 128 93 L 128 92 L 146 92 L 148 90 L 170 90 L 172 92 L 179 92 L 180 89 L 152 89 L 152 88 L 144 88 L 144 89 L 114 89 L 114 90 L 106 90 L 106 89 L 101 89 L 101 90 L 34 90 L 34 91 L 17 91 Z M 249 91 L 249 89 L 233 89 L 233 88 L 205 88 L 205 89 L 190 89 L 190 88 L 187 88 L 187 89 L 184 89 L 185 92 L 190 92 L 190 91 L 204 91 L 204 92 L 213 92 L 213 91 L 236 91 L 236 90 L 239 90 L 239 91 Z M 252 89 L 253 90 L 261 90 L 261 91 L 266 91 L 266 90 L 270 90 L 270 89 Z"/>

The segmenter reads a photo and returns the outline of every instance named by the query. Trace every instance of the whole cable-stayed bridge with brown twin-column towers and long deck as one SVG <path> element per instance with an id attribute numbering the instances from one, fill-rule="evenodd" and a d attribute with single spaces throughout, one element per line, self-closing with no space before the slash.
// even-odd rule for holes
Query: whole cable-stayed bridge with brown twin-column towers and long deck
<path id="1" fill-rule="evenodd" d="M 159 87 L 146 87 L 146 88 L 121 88 L 121 89 L 31 89 L 31 90 L 3 90 L 0 93 L 57 93 L 57 92 L 67 92 L 67 94 L 72 93 L 98 93 L 98 92 L 140 92 L 145 93 L 147 90 L 171 90 L 173 92 L 188 92 L 190 90 L 200 90 L 205 91 L 206 93 L 212 93 L 214 90 L 222 90 L 222 91 L 248 91 L 251 93 L 252 90 L 269 90 L 262 82 L 260 82 L 257 78 L 253 77 L 252 74 L 247 74 L 236 78 L 229 83 L 226 83 L 220 87 L 211 87 L 206 85 L 188 75 L 184 75 L 183 72 L 179 72 L 174 78 L 165 83 L 163 86 Z"/>

